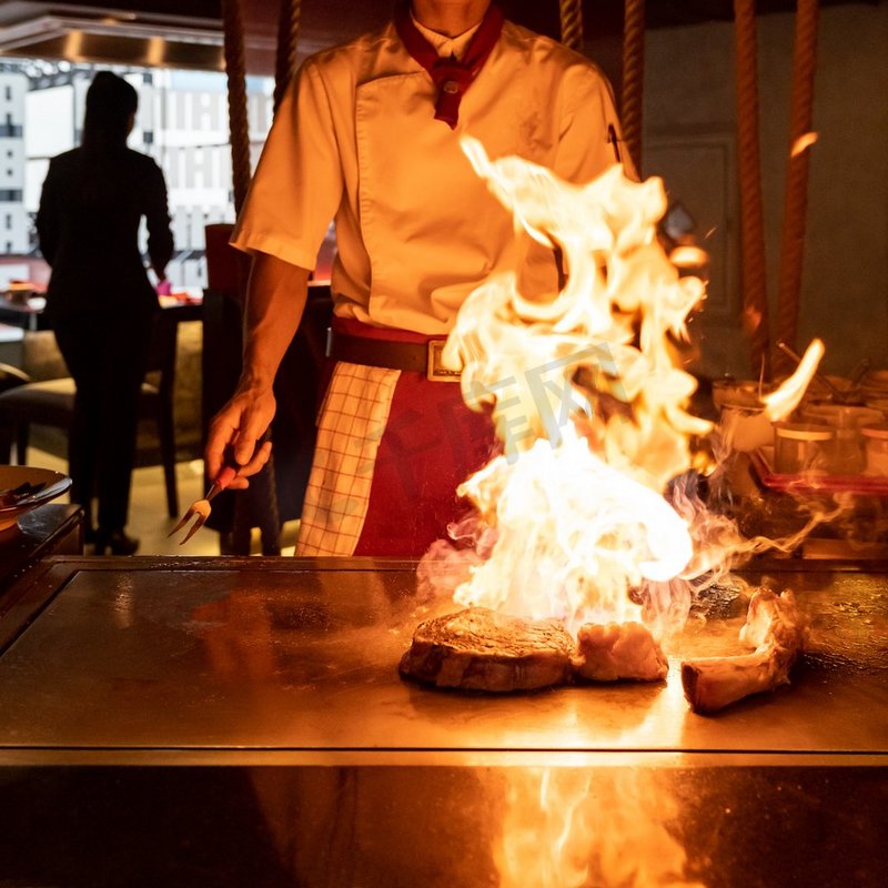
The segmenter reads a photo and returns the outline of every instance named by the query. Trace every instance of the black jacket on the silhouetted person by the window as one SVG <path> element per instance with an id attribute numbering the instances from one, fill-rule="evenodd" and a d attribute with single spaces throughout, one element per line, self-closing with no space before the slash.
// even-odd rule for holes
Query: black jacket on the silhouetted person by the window
<path id="1" fill-rule="evenodd" d="M 50 161 L 37 232 L 52 266 L 47 291 L 50 321 L 109 313 L 148 316 L 158 296 L 139 252 L 148 223 L 152 265 L 163 270 L 173 251 L 163 173 L 145 154 L 121 148 L 89 162 L 83 148 Z"/>

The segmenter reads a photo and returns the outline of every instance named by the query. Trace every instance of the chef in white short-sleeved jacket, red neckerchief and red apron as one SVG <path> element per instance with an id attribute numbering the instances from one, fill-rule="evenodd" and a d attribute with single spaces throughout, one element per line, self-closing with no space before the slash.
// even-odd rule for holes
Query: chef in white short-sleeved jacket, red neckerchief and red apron
<path id="1" fill-rule="evenodd" d="M 456 486 L 495 444 L 440 346 L 493 274 L 519 268 L 531 295 L 557 291 L 557 258 L 516 234 L 464 133 L 568 181 L 625 161 L 598 68 L 490 0 L 400 2 L 382 30 L 307 59 L 275 117 L 232 240 L 252 254 L 243 373 L 205 458 L 214 476 L 233 445 L 232 487 L 268 461 L 270 443 L 254 447 L 334 220 L 329 383 L 297 555 L 417 556 L 446 535 L 466 511 Z"/>

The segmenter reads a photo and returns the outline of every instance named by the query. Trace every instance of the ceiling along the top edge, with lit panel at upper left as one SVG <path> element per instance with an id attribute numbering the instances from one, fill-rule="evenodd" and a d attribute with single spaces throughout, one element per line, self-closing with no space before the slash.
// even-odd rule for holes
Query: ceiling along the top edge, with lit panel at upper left
<path id="1" fill-rule="evenodd" d="M 821 0 L 821 4 L 885 0 Z M 556 0 L 501 0 L 514 21 L 558 34 Z M 382 24 L 394 0 L 303 0 L 300 53 Z M 758 0 L 763 13 L 788 11 L 794 0 Z M 272 73 L 278 0 L 241 0 L 248 33 L 248 69 Z M 586 37 L 619 34 L 624 0 L 584 0 Z M 728 21 L 733 0 L 647 0 L 649 28 Z M 0 56 L 221 69 L 221 0 L 0 0 Z"/>

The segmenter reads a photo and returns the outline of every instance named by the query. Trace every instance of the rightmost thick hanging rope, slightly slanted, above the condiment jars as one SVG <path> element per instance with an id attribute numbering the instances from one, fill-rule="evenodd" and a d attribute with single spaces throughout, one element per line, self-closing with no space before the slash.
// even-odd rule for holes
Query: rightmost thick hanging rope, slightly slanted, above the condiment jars
<path id="1" fill-rule="evenodd" d="M 799 0 L 793 52 L 793 97 L 789 110 L 789 164 L 784 200 L 780 244 L 780 280 L 777 302 L 777 342 L 796 347 L 801 269 L 805 253 L 805 216 L 808 209 L 808 150 L 799 140 L 811 131 L 814 73 L 817 60 L 817 0 Z M 787 366 L 781 353 L 775 364 Z"/>

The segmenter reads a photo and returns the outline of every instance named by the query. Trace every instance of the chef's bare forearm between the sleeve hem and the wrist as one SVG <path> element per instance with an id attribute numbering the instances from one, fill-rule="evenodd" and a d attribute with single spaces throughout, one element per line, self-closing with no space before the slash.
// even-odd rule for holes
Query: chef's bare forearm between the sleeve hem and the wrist
<path id="1" fill-rule="evenodd" d="M 244 312 L 241 389 L 270 389 L 299 329 L 309 295 L 309 269 L 255 253 Z"/>

